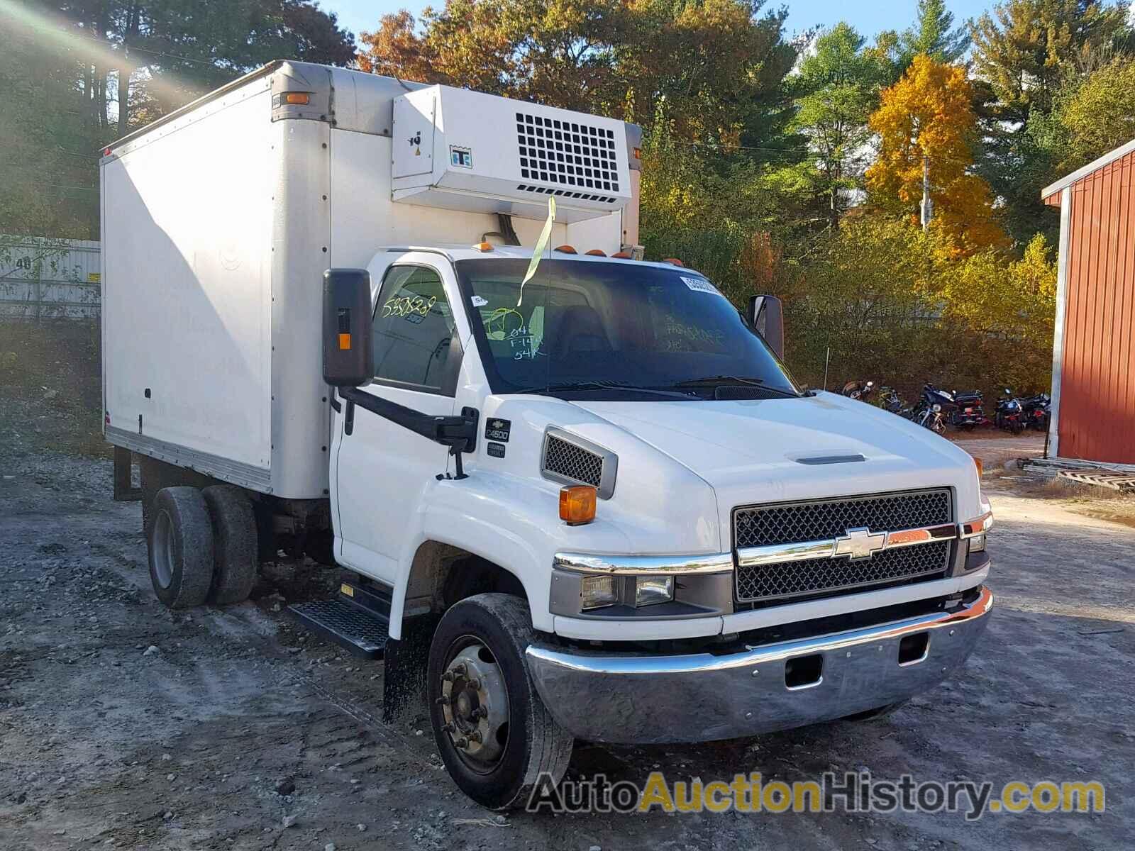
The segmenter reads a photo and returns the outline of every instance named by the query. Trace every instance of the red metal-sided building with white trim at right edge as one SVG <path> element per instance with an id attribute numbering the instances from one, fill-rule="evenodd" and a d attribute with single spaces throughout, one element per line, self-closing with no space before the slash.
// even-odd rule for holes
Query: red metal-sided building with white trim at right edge
<path id="1" fill-rule="evenodd" d="M 1060 208 L 1049 457 L 1135 464 L 1135 140 L 1041 193 Z"/>

